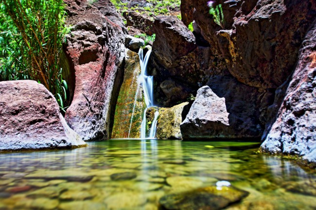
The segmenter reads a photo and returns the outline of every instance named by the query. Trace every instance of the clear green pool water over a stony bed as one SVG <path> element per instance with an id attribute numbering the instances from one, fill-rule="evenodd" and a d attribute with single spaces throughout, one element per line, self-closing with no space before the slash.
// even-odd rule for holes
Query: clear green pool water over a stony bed
<path id="1" fill-rule="evenodd" d="M 258 147 L 110 140 L 74 150 L 1 154 L 0 210 L 158 210 L 165 194 L 220 180 L 249 192 L 226 210 L 315 210 L 315 170 L 258 154 Z"/>

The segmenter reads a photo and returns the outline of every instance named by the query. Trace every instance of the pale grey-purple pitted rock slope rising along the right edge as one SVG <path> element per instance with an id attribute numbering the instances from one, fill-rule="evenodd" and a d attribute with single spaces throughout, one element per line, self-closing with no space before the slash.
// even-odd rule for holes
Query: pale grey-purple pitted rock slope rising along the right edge
<path id="1" fill-rule="evenodd" d="M 299 51 L 298 64 L 275 121 L 261 146 L 271 153 L 296 154 L 316 162 L 316 22 Z M 278 106 L 278 105 L 277 105 Z"/>

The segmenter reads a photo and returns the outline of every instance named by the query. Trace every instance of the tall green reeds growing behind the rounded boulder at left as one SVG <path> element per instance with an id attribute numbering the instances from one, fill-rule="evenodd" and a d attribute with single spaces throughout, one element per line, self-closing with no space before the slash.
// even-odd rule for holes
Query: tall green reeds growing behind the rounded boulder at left
<path id="1" fill-rule="evenodd" d="M 65 27 L 63 0 L 1 0 L 0 81 L 30 79 L 53 93 L 61 109 L 68 86 L 59 65 Z"/>

